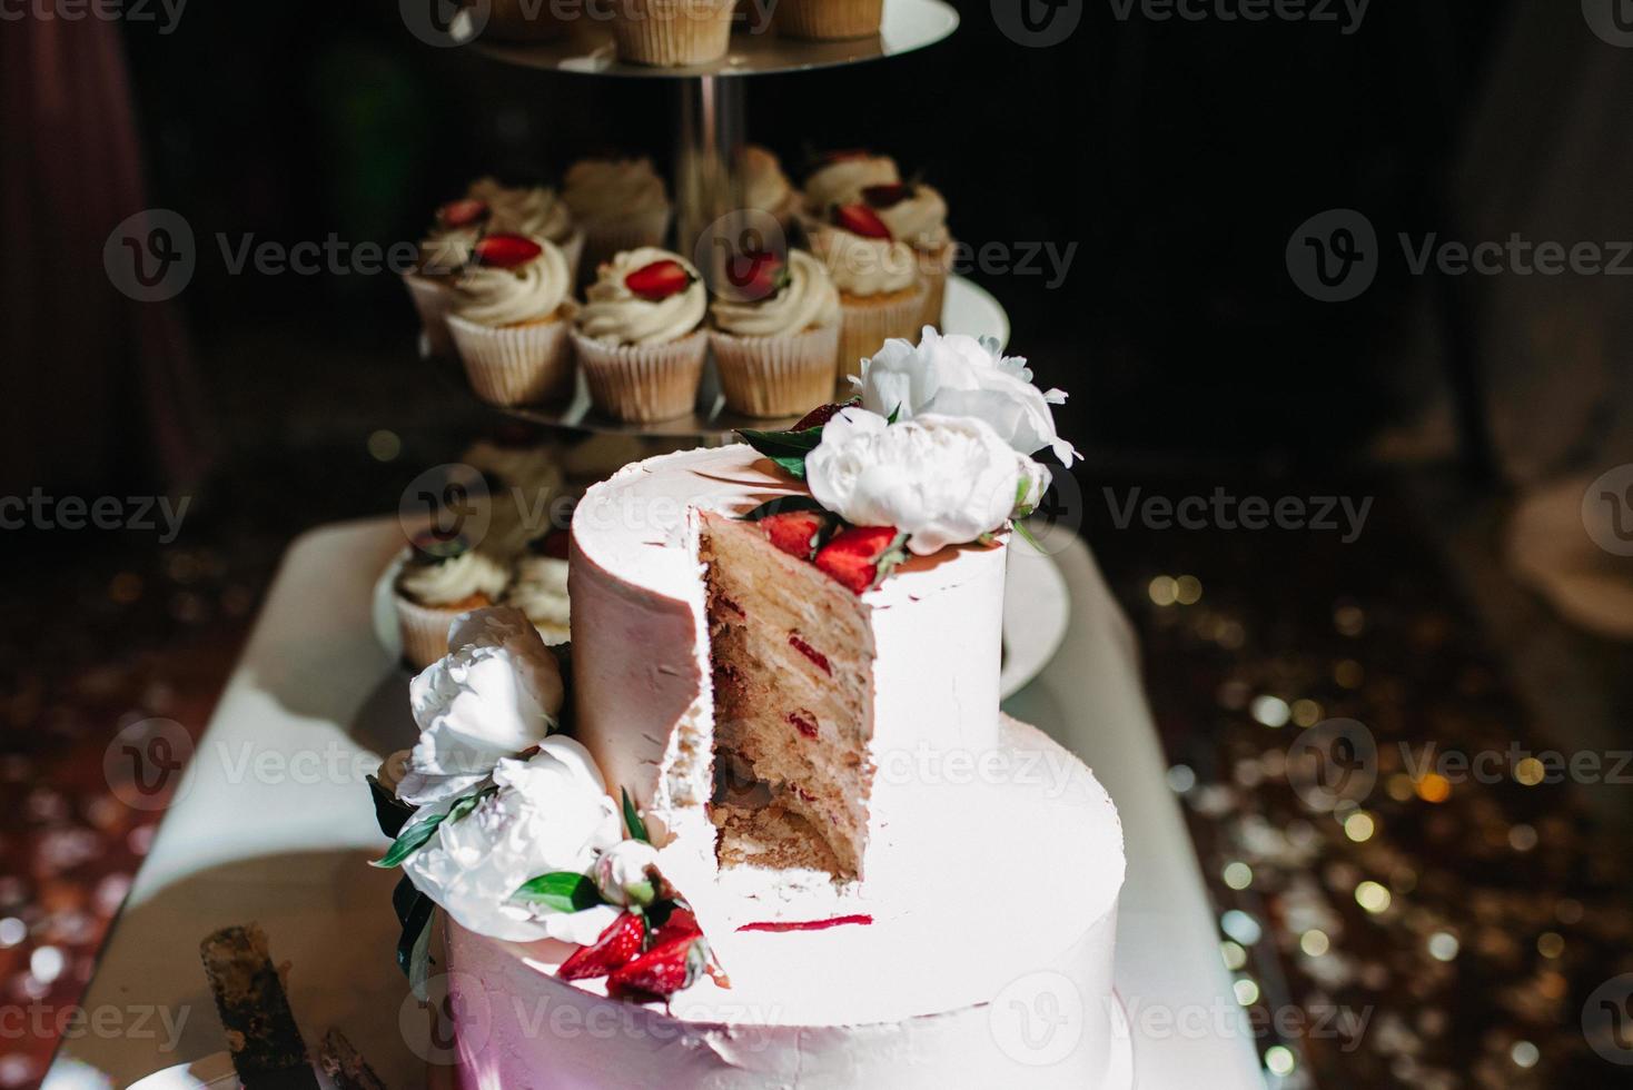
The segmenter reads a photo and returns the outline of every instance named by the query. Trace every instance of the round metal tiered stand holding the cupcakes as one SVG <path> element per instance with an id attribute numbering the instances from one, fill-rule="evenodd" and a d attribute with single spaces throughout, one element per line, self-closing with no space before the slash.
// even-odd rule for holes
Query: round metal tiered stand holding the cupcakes
<path id="1" fill-rule="evenodd" d="M 652 69 L 621 64 L 609 33 L 575 29 L 568 38 L 537 46 L 492 44 L 480 36 L 470 49 L 496 62 L 570 77 L 635 78 L 674 88 L 674 246 L 686 256 L 723 255 L 732 240 L 717 246 L 710 240 L 730 230 L 733 214 L 743 207 L 741 184 L 735 173 L 745 144 L 743 109 L 750 77 L 808 72 L 838 65 L 895 57 L 931 46 L 959 26 L 959 13 L 942 0 L 887 0 L 877 38 L 843 42 L 805 42 L 766 33 L 736 33 L 720 60 L 689 69 Z M 451 26 L 459 41 L 461 24 Z M 656 90 L 656 88 L 655 88 Z M 707 261 L 696 261 L 704 274 Z M 954 276 L 947 284 L 942 330 L 1009 339 L 1009 318 L 988 292 Z M 712 367 L 705 370 L 696 411 L 653 424 L 624 424 L 598 414 L 590 393 L 578 382 L 575 395 L 558 405 L 506 410 L 516 416 L 558 428 L 593 432 L 621 432 L 653 439 L 694 439 L 699 444 L 727 441 L 736 428 L 779 428 L 789 421 L 738 416 L 725 408 Z"/>

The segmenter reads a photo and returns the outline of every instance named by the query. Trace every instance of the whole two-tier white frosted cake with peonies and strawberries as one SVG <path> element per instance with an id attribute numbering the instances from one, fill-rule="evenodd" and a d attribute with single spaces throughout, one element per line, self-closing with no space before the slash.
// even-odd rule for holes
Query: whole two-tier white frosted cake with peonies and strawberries
<path id="1" fill-rule="evenodd" d="M 926 331 L 903 367 L 1014 370 L 955 341 Z M 1127 1085 L 1117 813 L 998 708 L 1008 519 L 1052 424 L 1016 444 L 926 410 L 934 382 L 869 413 L 879 379 L 759 450 L 588 491 L 568 710 L 505 610 L 416 679 L 398 845 L 447 814 L 405 866 L 449 915 L 461 1087 Z M 477 679 L 511 659 L 514 684 Z M 576 742 L 518 746 L 536 713 Z M 518 754 L 480 782 L 449 767 L 477 736 Z"/>

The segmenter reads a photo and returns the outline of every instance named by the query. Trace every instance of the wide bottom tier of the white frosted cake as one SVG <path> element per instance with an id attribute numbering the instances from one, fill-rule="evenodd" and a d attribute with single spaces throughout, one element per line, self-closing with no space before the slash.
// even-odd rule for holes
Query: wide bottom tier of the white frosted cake
<path id="1" fill-rule="evenodd" d="M 668 1012 L 555 979 L 560 943 L 456 928 L 462 1085 L 1104 1087 L 1124 880 L 1110 800 L 1009 720 L 985 759 L 919 775 L 923 821 L 942 835 L 921 849 L 913 891 L 872 922 L 821 930 L 705 924 L 730 987 L 699 981 Z M 1035 999 L 1035 981 L 1078 1035 L 1043 1067 L 1001 1025 L 1004 997 Z"/>

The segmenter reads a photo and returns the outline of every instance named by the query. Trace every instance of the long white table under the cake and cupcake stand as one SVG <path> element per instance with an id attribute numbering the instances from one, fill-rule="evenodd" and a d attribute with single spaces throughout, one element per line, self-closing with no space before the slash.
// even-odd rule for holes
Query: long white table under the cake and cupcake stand
<path id="1" fill-rule="evenodd" d="M 1138 1085 L 1262 1087 L 1164 783 L 1133 635 L 1083 543 L 1061 534 L 1043 543 L 1075 622 L 1006 710 L 1083 754 L 1122 813 L 1117 990 Z M 124 1087 L 219 1051 L 198 942 L 247 920 L 266 928 L 274 959 L 292 963 L 291 1002 L 309 1041 L 340 1026 L 389 1085 L 425 1085 L 398 1028 L 420 1012 L 390 959 L 397 873 L 364 865 L 384 839 L 363 775 L 413 741 L 407 676 L 371 628 L 371 587 L 400 547 L 395 519 L 320 527 L 291 545 L 87 989 L 91 1028 L 64 1039 L 47 1090 L 98 1085 L 91 1072 Z M 95 1028 L 98 1012 L 109 1030 Z"/>

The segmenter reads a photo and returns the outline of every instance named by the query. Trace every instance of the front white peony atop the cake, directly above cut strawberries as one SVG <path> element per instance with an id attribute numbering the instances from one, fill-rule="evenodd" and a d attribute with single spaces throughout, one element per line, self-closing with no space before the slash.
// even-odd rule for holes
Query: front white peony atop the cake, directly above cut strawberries
<path id="1" fill-rule="evenodd" d="M 836 413 L 805 455 L 816 503 L 856 525 L 903 530 L 919 555 L 1003 529 L 1040 472 L 983 419 L 929 414 L 888 424 L 859 408 Z"/>

